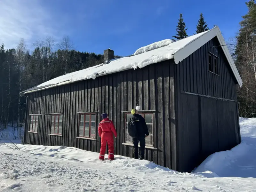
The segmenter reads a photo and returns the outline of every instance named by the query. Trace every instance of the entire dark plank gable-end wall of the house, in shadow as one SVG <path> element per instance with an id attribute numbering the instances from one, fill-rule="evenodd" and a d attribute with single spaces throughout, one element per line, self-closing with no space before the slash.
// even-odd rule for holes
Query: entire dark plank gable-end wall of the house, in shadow
<path id="1" fill-rule="evenodd" d="M 241 142 L 237 82 L 221 47 L 212 48 L 214 45 L 219 45 L 216 38 L 175 65 L 179 171 L 192 171 L 212 153 L 228 150 Z M 208 70 L 208 52 L 218 57 L 219 75 Z"/>

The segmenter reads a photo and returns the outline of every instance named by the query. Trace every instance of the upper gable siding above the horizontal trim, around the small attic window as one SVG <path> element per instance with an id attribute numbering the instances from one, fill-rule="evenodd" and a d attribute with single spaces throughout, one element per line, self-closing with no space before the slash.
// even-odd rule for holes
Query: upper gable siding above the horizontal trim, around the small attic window
<path id="1" fill-rule="evenodd" d="M 216 38 L 200 47 L 177 65 L 180 90 L 212 97 L 236 100 L 236 79 Z M 218 58 L 218 75 L 209 72 L 208 52 Z"/>

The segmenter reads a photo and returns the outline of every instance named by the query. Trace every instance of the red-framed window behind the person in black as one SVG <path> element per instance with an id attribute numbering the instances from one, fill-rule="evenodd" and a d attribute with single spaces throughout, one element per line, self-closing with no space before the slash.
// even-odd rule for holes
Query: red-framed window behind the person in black
<path id="1" fill-rule="evenodd" d="M 153 113 L 141 113 L 138 112 L 139 115 L 143 116 L 145 122 L 148 126 L 149 136 L 146 137 L 146 145 L 153 146 Z M 132 143 L 132 137 L 128 134 L 128 122 L 132 117 L 131 113 L 125 113 L 125 143 Z"/>

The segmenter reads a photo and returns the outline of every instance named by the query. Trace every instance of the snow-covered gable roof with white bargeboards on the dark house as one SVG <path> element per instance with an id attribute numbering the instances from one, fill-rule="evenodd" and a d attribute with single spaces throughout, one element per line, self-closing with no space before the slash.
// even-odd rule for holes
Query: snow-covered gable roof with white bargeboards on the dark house
<path id="1" fill-rule="evenodd" d="M 172 42 L 172 40 L 167 39 L 156 42 L 154 44 L 150 44 L 148 46 L 138 49 L 131 56 L 114 59 L 107 64 L 102 63 L 100 65 L 56 77 L 52 80 L 49 80 L 26 91 L 23 91 L 20 93 L 20 95 L 48 89 L 59 85 L 69 84 L 76 81 L 82 81 L 85 79 L 95 79 L 97 76 L 116 73 L 131 68 L 143 68 L 147 65 L 158 63 L 164 60 L 174 59 L 174 62 L 178 64 L 180 61 L 187 58 L 190 54 L 195 52 L 197 49 L 206 44 L 215 36 L 217 36 L 221 45 L 225 45 L 225 41 L 220 33 L 220 29 L 218 26 L 216 26 L 208 31 L 189 36 L 178 41 Z M 228 60 L 228 63 L 232 69 L 232 72 L 234 73 L 238 84 L 241 87 L 242 79 L 236 69 L 235 63 L 228 51 L 227 46 L 221 46 L 221 48 Z"/>

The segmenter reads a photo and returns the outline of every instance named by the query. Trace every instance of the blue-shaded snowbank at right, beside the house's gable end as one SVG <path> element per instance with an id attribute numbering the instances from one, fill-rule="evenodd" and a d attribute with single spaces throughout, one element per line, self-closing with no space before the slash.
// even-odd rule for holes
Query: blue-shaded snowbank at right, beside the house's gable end
<path id="1" fill-rule="evenodd" d="M 256 118 L 240 123 L 242 143 L 210 155 L 194 173 L 206 177 L 256 178 Z"/>

